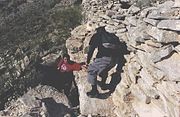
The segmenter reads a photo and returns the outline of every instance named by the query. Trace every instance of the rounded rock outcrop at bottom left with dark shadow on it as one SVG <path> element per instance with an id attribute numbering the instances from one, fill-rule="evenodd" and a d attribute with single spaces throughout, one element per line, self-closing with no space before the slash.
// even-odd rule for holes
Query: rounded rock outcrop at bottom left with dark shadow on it
<path id="1" fill-rule="evenodd" d="M 70 103 L 63 93 L 49 86 L 37 86 L 11 106 L 0 112 L 1 117 L 71 117 Z"/>

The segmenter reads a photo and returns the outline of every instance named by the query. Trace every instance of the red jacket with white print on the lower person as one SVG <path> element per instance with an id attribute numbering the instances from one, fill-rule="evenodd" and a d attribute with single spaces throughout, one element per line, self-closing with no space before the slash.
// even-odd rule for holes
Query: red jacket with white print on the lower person
<path id="1" fill-rule="evenodd" d="M 81 70 L 81 64 L 71 61 L 71 63 L 65 63 L 63 59 L 61 59 L 58 63 L 58 69 L 61 72 L 71 72 L 71 71 L 79 71 Z"/>

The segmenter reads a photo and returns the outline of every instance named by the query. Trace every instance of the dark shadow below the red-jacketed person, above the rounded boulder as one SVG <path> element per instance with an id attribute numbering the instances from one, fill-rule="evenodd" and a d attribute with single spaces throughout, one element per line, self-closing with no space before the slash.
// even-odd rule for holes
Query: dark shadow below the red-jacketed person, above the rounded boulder
<path id="1" fill-rule="evenodd" d="M 61 73 L 54 66 L 42 64 L 38 64 L 36 70 L 42 85 L 55 87 L 59 91 L 63 90 L 73 107 L 79 105 L 78 88 L 73 72 Z"/>

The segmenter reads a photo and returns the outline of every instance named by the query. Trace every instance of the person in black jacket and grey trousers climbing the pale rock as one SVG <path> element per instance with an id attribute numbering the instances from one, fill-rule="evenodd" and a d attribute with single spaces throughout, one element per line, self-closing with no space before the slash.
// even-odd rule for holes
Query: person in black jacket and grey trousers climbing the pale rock
<path id="1" fill-rule="evenodd" d="M 96 33 L 92 36 L 89 42 L 89 51 L 87 55 L 87 65 L 93 56 L 95 48 L 98 49 L 98 53 L 94 61 L 88 66 L 88 82 L 91 84 L 91 91 L 87 92 L 89 97 L 98 97 L 97 90 L 97 75 L 101 80 L 101 86 L 105 86 L 106 78 L 108 76 L 108 70 L 115 63 L 117 56 L 117 50 L 120 41 L 117 36 L 112 33 L 108 33 L 105 27 L 99 27 L 96 29 Z"/>

